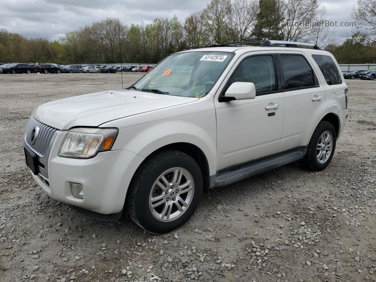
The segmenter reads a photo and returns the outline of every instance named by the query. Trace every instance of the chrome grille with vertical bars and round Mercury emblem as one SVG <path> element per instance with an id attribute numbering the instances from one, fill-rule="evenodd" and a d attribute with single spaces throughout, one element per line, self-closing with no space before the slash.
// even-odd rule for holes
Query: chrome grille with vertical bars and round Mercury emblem
<path id="1" fill-rule="evenodd" d="M 25 142 L 39 156 L 44 157 L 56 136 L 55 127 L 31 117 L 26 127 Z"/>

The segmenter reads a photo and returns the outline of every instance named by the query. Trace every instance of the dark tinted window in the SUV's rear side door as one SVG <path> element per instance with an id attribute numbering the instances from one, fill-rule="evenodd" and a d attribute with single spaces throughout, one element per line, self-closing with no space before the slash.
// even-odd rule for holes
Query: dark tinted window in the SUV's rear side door
<path id="1" fill-rule="evenodd" d="M 280 55 L 285 89 L 314 86 L 312 68 L 301 55 Z"/>

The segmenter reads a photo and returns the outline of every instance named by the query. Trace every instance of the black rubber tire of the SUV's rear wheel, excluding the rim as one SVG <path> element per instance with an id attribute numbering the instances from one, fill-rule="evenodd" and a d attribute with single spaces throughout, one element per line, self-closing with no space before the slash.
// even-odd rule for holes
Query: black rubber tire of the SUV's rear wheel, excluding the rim
<path id="1" fill-rule="evenodd" d="M 332 137 L 333 137 L 332 152 L 331 152 L 331 155 L 326 159 L 326 161 L 323 164 L 320 164 L 317 160 L 316 150 L 317 150 L 318 141 L 321 135 L 325 131 L 330 131 L 332 133 Z M 317 125 L 315 131 L 312 134 L 311 140 L 308 143 L 307 153 L 303 158 L 303 164 L 305 165 L 305 167 L 312 171 L 320 171 L 326 168 L 333 158 L 336 141 L 337 141 L 337 134 L 335 133 L 333 124 L 331 124 L 328 121 L 320 121 L 320 123 Z"/>

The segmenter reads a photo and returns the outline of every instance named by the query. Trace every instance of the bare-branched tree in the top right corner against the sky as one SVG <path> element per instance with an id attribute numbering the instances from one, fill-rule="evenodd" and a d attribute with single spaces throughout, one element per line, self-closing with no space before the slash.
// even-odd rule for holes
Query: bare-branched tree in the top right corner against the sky
<path id="1" fill-rule="evenodd" d="M 353 8 L 352 18 L 356 21 L 356 32 L 371 42 L 376 42 L 376 2 L 358 0 L 358 8 Z"/>

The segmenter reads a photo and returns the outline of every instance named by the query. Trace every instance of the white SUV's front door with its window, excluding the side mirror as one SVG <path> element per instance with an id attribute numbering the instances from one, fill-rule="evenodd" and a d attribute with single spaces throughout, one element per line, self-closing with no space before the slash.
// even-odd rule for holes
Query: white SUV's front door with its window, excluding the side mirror
<path id="1" fill-rule="evenodd" d="M 214 99 L 217 115 L 217 170 L 278 152 L 284 98 L 277 83 L 274 51 L 241 56 Z M 253 82 L 256 98 L 219 102 L 233 82 Z"/>

